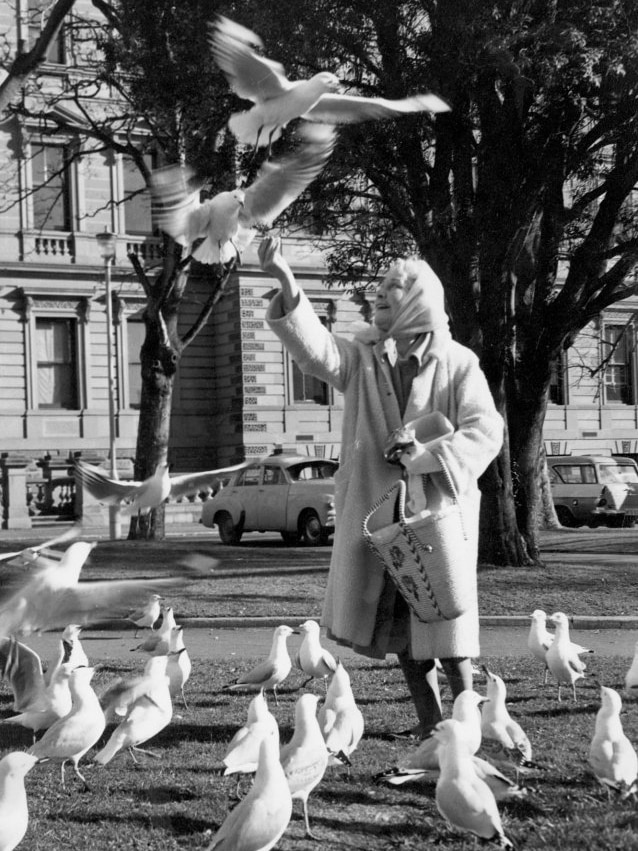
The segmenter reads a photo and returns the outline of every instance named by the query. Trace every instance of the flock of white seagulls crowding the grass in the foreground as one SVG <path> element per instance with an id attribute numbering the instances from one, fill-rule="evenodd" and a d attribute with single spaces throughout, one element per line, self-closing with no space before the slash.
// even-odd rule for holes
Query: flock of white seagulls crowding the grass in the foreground
<path id="1" fill-rule="evenodd" d="M 181 700 L 188 711 L 185 686 L 191 660 L 183 627 L 176 622 L 165 594 L 178 576 L 181 582 L 189 578 L 192 566 L 168 582 L 158 580 L 160 586 L 153 590 L 148 584 L 139 587 L 141 580 L 106 583 L 112 587 L 105 590 L 105 583 L 80 581 L 92 545 L 72 538 L 66 533 L 62 543 L 67 547 L 62 552 L 56 549 L 58 538 L 6 561 L 8 569 L 18 566 L 21 580 L 9 583 L 7 601 L 0 602 L 4 618 L 0 622 L 11 627 L 0 638 L 0 677 L 12 691 L 15 712 L 0 722 L 0 729 L 5 724 L 23 726 L 31 731 L 33 744 L 26 753 L 14 751 L 0 760 L 2 851 L 12 851 L 26 833 L 25 777 L 34 766 L 58 763 L 65 788 L 65 769 L 70 765 L 82 788 L 89 789 L 85 764 L 105 767 L 125 753 L 134 762 L 141 755 L 160 758 L 147 744 L 152 747 L 153 739 L 172 723 L 174 701 Z M 202 565 L 197 564 L 199 572 L 194 578 L 201 577 Z M 95 586 L 91 610 L 78 603 L 83 600 L 78 594 L 82 584 Z M 116 593 L 118 589 L 120 593 Z M 109 609 L 115 616 L 121 615 L 129 589 L 133 598 L 146 594 L 143 604 L 123 615 L 135 627 L 135 636 L 139 630 L 146 633 L 141 643 L 131 647 L 132 652 L 145 655 L 146 663 L 141 673 L 112 682 L 98 694 L 93 686 L 95 668 L 82 647 L 81 629 L 93 622 L 93 611 L 98 618 Z M 25 618 L 26 628 L 9 618 L 7 612 L 14 609 Z M 19 639 L 22 633 L 61 629 L 63 613 L 80 617 L 64 626 L 57 655 L 45 665 Z M 555 625 L 553 634 L 547 629 L 548 621 Z M 303 638 L 291 656 L 288 639 L 295 633 Z M 528 646 L 559 688 L 572 687 L 576 700 L 575 684 L 585 676 L 581 656 L 592 651 L 571 641 L 566 615 L 556 612 L 547 618 L 536 610 L 531 616 Z M 510 714 L 504 679 L 486 666 L 481 670 L 485 694 L 474 689 L 459 694 L 450 719 L 440 722 L 400 763 L 373 779 L 392 787 L 417 781 L 429 784 L 434 787 L 436 808 L 451 829 L 512 848 L 501 807 L 530 798 L 532 790 L 526 787 L 526 779 L 542 777 L 546 768 L 535 759 L 530 737 Z M 295 704 L 292 737 L 281 741 L 267 693 L 272 692 L 273 704 L 278 706 L 277 689 L 293 671 L 303 676 L 302 693 Z M 309 685 L 318 686 L 322 699 L 304 690 Z M 638 688 L 638 643 L 625 686 L 629 692 Z M 636 798 L 638 756 L 623 731 L 621 697 L 613 688 L 601 684 L 599 688 L 600 708 L 584 759 L 608 796 Z M 276 627 L 268 656 L 223 690 L 254 694 L 245 722 L 228 742 L 218 769 L 224 776 L 236 778 L 239 802 L 212 837 L 209 851 L 272 848 L 287 829 L 295 801 L 301 802 L 306 836 L 316 839 L 310 819 L 312 794 L 326 772 L 338 766 L 349 771 L 356 763 L 365 731 L 364 713 L 349 673 L 342 661 L 322 646 L 319 624 L 308 620 L 297 629 Z M 560 691 L 557 697 L 561 700 Z M 250 786 L 242 794 L 246 777 L 251 778 Z"/>

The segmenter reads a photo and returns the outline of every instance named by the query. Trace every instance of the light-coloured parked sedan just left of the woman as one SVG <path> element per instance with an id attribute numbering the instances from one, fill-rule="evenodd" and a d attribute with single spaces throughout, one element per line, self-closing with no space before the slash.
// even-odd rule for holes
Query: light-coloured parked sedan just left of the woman
<path id="1" fill-rule="evenodd" d="M 204 503 L 202 523 L 217 526 L 224 544 L 244 532 L 280 532 L 287 544 L 325 544 L 334 532 L 338 463 L 308 455 L 269 455 L 233 473 Z"/>

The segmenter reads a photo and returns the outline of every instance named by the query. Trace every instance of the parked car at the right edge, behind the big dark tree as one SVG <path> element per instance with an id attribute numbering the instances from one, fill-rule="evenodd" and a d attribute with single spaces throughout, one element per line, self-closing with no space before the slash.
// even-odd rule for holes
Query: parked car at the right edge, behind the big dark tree
<path id="1" fill-rule="evenodd" d="M 549 481 L 563 526 L 631 526 L 638 517 L 638 465 L 612 455 L 550 455 Z"/>

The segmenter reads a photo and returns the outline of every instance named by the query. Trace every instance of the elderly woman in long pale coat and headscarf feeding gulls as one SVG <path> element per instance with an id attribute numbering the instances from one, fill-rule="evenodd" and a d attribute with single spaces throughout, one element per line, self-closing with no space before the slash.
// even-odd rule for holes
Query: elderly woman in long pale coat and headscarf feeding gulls
<path id="1" fill-rule="evenodd" d="M 441 720 L 434 660 L 440 659 L 454 697 L 472 688 L 470 657 L 480 653 L 477 479 L 500 449 L 502 419 L 476 355 L 452 340 L 443 288 L 423 260 L 399 260 L 390 267 L 376 290 L 374 326 L 349 340 L 321 324 L 278 240 L 264 239 L 259 258 L 281 285 L 268 311 L 270 327 L 303 372 L 344 395 L 336 530 L 322 622 L 332 639 L 358 653 L 398 655 L 418 717 L 414 733 L 427 735 Z M 454 620 L 423 623 L 387 579 L 361 528 L 370 507 L 401 472 L 383 457 L 389 433 L 437 412 L 451 428 L 436 442 L 436 453 L 416 441 L 401 463 L 411 478 L 429 474 L 425 498 L 433 510 L 445 503 L 441 465 L 447 468 L 472 544 L 472 558 L 460 567 L 473 604 Z M 386 502 L 375 523 L 382 527 L 392 521 L 392 505 Z"/>

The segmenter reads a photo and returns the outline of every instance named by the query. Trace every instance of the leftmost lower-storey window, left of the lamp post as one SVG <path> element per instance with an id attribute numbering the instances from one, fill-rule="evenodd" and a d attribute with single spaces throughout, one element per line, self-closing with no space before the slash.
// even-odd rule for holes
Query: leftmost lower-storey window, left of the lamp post
<path id="1" fill-rule="evenodd" d="M 36 318 L 37 407 L 78 407 L 75 319 Z"/>

